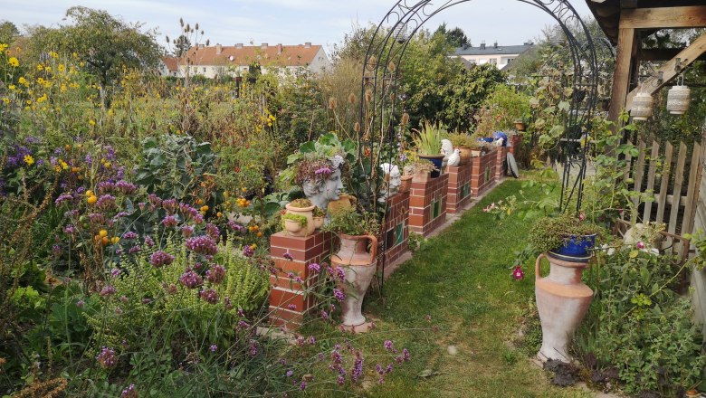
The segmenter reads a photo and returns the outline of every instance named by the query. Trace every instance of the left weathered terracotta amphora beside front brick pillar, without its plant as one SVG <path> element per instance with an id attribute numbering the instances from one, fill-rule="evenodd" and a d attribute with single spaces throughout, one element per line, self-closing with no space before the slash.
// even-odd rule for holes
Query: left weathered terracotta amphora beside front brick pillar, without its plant
<path id="1" fill-rule="evenodd" d="M 341 267 L 346 274 L 345 286 L 342 286 L 346 297 L 341 305 L 341 324 L 343 327 L 358 327 L 366 322 L 361 308 L 377 270 L 377 238 L 373 235 L 353 236 L 345 233 L 340 233 L 339 237 L 340 249 L 331 256 L 331 264 Z"/>

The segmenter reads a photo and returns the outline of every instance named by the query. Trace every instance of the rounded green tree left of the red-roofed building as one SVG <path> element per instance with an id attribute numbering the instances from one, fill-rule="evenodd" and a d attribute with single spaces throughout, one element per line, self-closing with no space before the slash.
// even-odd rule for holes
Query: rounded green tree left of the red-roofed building
<path id="1" fill-rule="evenodd" d="M 36 56 L 44 52 L 76 52 L 86 62 L 86 71 L 95 75 L 106 104 L 106 90 L 118 81 L 123 66 L 141 70 L 157 69 L 162 49 L 156 33 L 141 31 L 142 24 L 128 24 L 102 10 L 75 6 L 66 16 L 72 24 L 56 29 L 33 29 L 32 47 Z"/>

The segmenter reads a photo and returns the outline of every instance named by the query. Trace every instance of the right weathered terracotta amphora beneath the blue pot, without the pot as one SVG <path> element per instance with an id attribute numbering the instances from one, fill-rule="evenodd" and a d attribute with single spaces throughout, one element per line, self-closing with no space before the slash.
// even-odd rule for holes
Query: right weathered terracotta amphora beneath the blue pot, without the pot
<path id="1" fill-rule="evenodd" d="M 546 278 L 541 278 L 543 257 L 548 258 L 551 266 Z M 534 293 L 542 326 L 542 346 L 537 357 L 542 362 L 572 360 L 567 351 L 568 343 L 593 299 L 593 290 L 581 281 L 587 267 L 586 262 L 563 261 L 545 254 L 539 254 L 537 258 Z"/>

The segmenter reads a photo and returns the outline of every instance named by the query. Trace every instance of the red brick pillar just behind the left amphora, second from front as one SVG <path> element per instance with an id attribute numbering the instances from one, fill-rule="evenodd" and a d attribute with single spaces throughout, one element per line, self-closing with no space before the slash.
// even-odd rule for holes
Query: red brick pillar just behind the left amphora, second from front
<path id="1" fill-rule="evenodd" d="M 407 250 L 409 236 L 409 192 L 399 193 L 387 199 L 387 214 L 384 235 L 385 266 L 395 263 Z"/>

